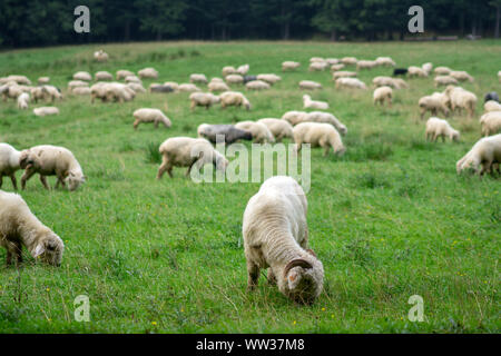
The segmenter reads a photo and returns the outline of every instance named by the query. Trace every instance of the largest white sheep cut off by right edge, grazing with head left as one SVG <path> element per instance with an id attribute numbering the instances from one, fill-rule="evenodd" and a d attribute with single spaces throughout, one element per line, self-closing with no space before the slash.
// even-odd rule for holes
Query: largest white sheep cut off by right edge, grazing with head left
<path id="1" fill-rule="evenodd" d="M 501 134 L 481 138 L 471 150 L 456 164 L 455 170 L 460 175 L 465 169 L 473 169 L 478 175 L 491 172 L 494 165 L 501 165 Z"/>

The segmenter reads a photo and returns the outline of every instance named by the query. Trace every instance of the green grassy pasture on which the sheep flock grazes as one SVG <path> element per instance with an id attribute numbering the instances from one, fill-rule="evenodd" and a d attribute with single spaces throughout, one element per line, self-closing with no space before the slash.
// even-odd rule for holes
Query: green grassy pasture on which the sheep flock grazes
<path id="1" fill-rule="evenodd" d="M 92 61 L 99 48 L 107 63 Z M 426 61 L 466 70 L 479 97 L 473 119 L 453 116 L 456 144 L 429 144 L 418 99 L 435 91 L 433 77 L 409 79 L 392 108 L 374 107 L 372 89 L 336 90 L 331 75 L 308 72 L 311 57 L 392 57 L 397 67 Z M 131 102 L 57 102 L 61 113 L 37 118 L 16 102 L 0 103 L 0 141 L 18 149 L 51 144 L 72 150 L 88 177 L 76 192 L 47 191 L 37 177 L 21 192 L 32 211 L 65 241 L 59 268 L 27 256 L 4 267 L 0 249 L 1 333 L 499 333 L 501 180 L 458 176 L 455 162 L 480 138 L 483 95 L 501 92 L 501 41 L 459 42 L 155 42 L 75 46 L 0 53 L 0 76 L 50 76 L 66 91 L 73 72 L 92 75 L 155 67 L 157 82 L 187 82 L 224 66 L 250 65 L 252 75 L 282 81 L 261 92 L 242 90 L 250 111 L 219 106 L 189 110 L 188 93 L 138 95 Z M 282 73 L 284 60 L 302 67 Z M 350 70 L 350 68 L 348 68 Z M 360 73 L 390 75 L 389 68 Z M 195 184 L 185 169 L 155 179 L 158 146 L 196 136 L 197 126 L 282 117 L 303 107 L 298 81 L 321 82 L 325 100 L 347 128 L 346 154 L 312 149 L 307 194 L 310 243 L 324 264 L 324 293 L 298 306 L 264 276 L 246 293 L 243 212 L 259 184 Z M 145 80 L 147 88 L 154 80 Z M 206 90 L 205 86 L 202 86 Z M 66 93 L 66 92 L 65 92 Z M 132 129 L 132 111 L 165 109 L 170 129 Z M 38 106 L 42 106 L 39 103 Z M 428 117 L 426 117 L 428 118 Z M 249 146 L 248 142 L 245 145 Z M 18 171 L 18 180 L 21 171 Z M 55 178 L 49 178 L 53 187 Z M 12 190 L 4 179 L 4 190 Z M 73 299 L 90 299 L 90 322 L 73 318 Z M 424 300 L 424 322 L 407 319 L 412 295 Z"/>

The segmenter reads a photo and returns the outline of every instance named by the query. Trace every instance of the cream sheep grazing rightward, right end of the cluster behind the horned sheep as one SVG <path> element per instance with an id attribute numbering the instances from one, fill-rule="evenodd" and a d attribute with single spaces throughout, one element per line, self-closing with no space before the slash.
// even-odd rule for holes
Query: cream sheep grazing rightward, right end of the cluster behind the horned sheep
<path id="1" fill-rule="evenodd" d="M 331 147 L 337 156 L 343 156 L 346 151 L 340 134 L 330 123 L 302 122 L 294 127 L 293 135 L 296 151 L 301 150 L 303 144 L 311 144 L 312 147 L 323 147 L 324 156 L 327 156 Z"/>

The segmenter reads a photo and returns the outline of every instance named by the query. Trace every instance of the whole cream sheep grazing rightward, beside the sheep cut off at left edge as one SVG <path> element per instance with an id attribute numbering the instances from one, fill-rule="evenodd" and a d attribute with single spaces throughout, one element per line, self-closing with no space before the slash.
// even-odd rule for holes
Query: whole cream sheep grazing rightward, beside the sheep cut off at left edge
<path id="1" fill-rule="evenodd" d="M 35 175 L 40 175 L 40 181 L 49 190 L 46 176 L 57 176 L 59 185 L 69 191 L 75 191 L 86 181 L 86 176 L 73 154 L 65 148 L 51 145 L 36 146 L 21 151 L 20 166 L 24 169 L 21 177 L 21 188 L 26 189 L 27 181 Z"/>

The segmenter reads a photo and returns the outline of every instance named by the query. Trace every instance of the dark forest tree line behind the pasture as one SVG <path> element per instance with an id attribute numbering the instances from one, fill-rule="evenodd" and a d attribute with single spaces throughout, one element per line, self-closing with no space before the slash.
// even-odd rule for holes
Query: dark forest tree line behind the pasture
<path id="1" fill-rule="evenodd" d="M 90 9 L 76 33 L 73 9 Z M 413 4 L 425 36 L 499 37 L 501 0 L 1 0 L 0 47 L 141 40 L 392 40 L 407 32 Z"/>

